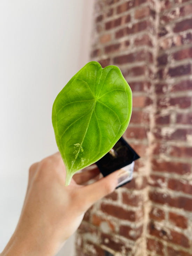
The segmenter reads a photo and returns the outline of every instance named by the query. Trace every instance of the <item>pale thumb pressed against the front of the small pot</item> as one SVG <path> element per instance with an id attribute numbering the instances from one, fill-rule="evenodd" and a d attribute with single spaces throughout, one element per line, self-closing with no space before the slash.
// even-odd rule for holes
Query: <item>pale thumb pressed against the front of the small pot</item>
<path id="1" fill-rule="evenodd" d="M 90 185 L 82 187 L 81 195 L 84 199 L 84 210 L 87 211 L 97 200 L 113 192 L 120 181 L 124 180 L 127 176 L 128 172 L 120 169 Z"/>

